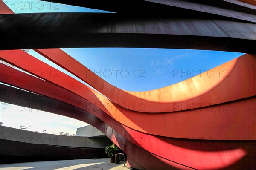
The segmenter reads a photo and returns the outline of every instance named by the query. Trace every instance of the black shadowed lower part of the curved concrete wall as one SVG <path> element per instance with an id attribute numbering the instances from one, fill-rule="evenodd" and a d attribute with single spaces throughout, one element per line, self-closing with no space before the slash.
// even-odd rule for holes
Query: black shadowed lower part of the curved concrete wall
<path id="1" fill-rule="evenodd" d="M 0 164 L 107 158 L 104 148 L 61 147 L 0 139 Z"/>

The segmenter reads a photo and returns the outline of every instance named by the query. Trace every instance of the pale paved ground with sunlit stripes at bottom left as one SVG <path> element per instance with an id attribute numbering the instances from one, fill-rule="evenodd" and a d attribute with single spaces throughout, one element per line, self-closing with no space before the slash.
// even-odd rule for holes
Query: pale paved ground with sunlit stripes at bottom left
<path id="1" fill-rule="evenodd" d="M 126 164 L 125 164 L 126 165 Z M 64 161 L 41 161 L 17 164 L 2 164 L 0 170 L 131 170 L 123 164 L 111 164 L 110 158 L 76 159 Z"/>

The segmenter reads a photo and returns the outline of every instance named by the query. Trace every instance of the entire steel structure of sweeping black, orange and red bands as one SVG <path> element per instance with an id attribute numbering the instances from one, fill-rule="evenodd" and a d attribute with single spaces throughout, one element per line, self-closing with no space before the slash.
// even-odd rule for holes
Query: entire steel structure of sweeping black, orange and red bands
<path id="1" fill-rule="evenodd" d="M 217 75 L 204 72 L 162 89 L 128 92 L 95 76 L 61 49 L 41 49 L 108 46 L 255 53 L 253 3 L 51 2 L 117 14 L 10 14 L 13 12 L 4 6 L 0 12 L 3 32 L 0 48 L 33 48 L 103 95 L 22 50 L 6 50 L 0 51 L 1 60 L 37 77 L 0 63 L 2 83 L 29 91 L 1 84 L 1 101 L 35 109 L 40 106 L 44 111 L 97 127 L 132 159 L 131 167 L 147 170 L 256 167 L 255 54 L 245 54 L 213 68 Z M 126 9 L 133 6 L 132 14 L 124 6 Z M 17 35 L 21 38 L 12 38 Z M 50 76 L 49 70 L 56 74 Z M 221 76 L 219 70 L 223 71 Z M 134 104 L 137 107 L 132 107 Z"/>

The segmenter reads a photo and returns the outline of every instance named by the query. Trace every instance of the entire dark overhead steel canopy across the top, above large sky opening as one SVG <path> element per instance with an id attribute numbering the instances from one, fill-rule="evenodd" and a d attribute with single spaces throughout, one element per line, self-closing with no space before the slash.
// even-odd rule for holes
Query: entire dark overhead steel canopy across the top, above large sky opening
<path id="1" fill-rule="evenodd" d="M 3 5 L 1 14 L 6 15 L 0 16 L 0 30 L 5 33 L 1 37 L 5 43 L 0 49 L 151 47 L 255 53 L 255 6 L 223 0 L 151 1 L 52 1 L 113 9 L 116 14 L 9 15 Z M 125 10 L 127 6 L 132 6 L 132 13 Z M 12 39 L 15 35 L 26 38 Z"/>

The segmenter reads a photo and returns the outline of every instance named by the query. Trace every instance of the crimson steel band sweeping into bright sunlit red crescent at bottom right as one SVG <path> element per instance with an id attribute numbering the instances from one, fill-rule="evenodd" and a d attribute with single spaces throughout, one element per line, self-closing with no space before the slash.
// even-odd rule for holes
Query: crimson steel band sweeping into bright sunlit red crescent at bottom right
<path id="1" fill-rule="evenodd" d="M 88 101 L 82 99 L 81 97 L 79 97 L 65 89 L 62 89 L 61 87 L 55 86 L 54 84 L 50 84 L 49 82 L 46 82 L 46 81 L 42 81 L 38 78 L 32 77 L 31 75 L 26 75 L 26 77 L 17 76 L 17 75 L 24 75 L 24 73 L 17 71 L 17 74 L 13 74 L 15 72 L 15 70 L 10 67 L 8 68 L 8 66 L 5 66 L 5 65 L 1 66 L 1 68 L 2 68 L 1 72 L 3 73 L 1 75 L 1 79 L 3 78 L 5 83 L 8 83 L 8 84 L 11 84 L 14 86 L 18 85 L 20 88 L 23 88 L 26 90 L 36 92 L 41 95 L 46 95 L 51 98 L 60 99 L 61 101 L 70 103 L 74 106 L 84 105 L 85 106 L 84 109 L 88 108 L 87 107 Z M 7 69 L 9 69 L 9 74 L 6 73 Z M 18 73 L 18 72 L 20 72 L 20 73 Z M 27 82 L 31 82 L 32 84 L 29 84 L 29 86 L 28 86 Z M 41 87 L 44 87 L 44 88 L 41 88 Z M 50 91 L 47 92 L 46 89 L 50 89 Z M 51 92 L 53 92 L 53 93 L 51 93 Z M 248 101 L 255 102 L 255 98 L 244 101 L 242 104 L 247 103 Z M 236 103 L 236 105 L 237 105 L 237 103 Z M 95 108 L 90 109 L 90 110 L 87 109 L 87 111 L 94 112 L 93 113 L 94 115 L 96 115 L 97 117 L 99 117 L 100 119 L 105 121 L 107 124 L 109 124 L 111 127 L 113 127 L 113 129 L 117 130 L 117 132 L 119 134 L 121 134 L 126 139 L 133 142 L 134 144 L 137 144 L 138 146 L 142 147 L 143 149 L 148 150 L 149 152 L 154 153 L 163 158 L 169 159 L 171 161 L 176 161 L 180 164 L 186 164 L 186 166 L 195 167 L 195 168 L 199 168 L 199 169 L 206 169 L 208 167 L 212 167 L 215 169 L 215 168 L 224 166 L 223 163 L 216 164 L 215 161 L 223 162 L 224 160 L 226 160 L 226 161 L 229 160 L 229 161 L 227 161 L 227 164 L 225 165 L 225 166 L 228 166 L 228 165 L 230 165 L 230 162 L 239 160 L 239 159 L 237 159 L 238 158 L 237 156 L 239 154 L 240 154 L 240 158 L 241 158 L 246 153 L 246 151 L 242 151 L 241 149 L 239 149 L 239 147 L 230 147 L 229 144 L 226 145 L 225 149 L 222 146 L 222 151 L 218 151 L 218 152 L 209 151 L 209 149 L 211 150 L 211 148 L 213 148 L 214 145 L 212 145 L 212 144 L 209 145 L 207 143 L 204 143 L 204 141 L 201 141 L 201 147 L 200 147 L 200 150 L 204 150 L 204 151 L 197 150 L 196 147 L 194 147 L 195 150 L 186 149 L 186 148 L 180 147 L 180 145 L 181 146 L 183 145 L 183 146 L 186 146 L 189 148 L 193 148 L 195 142 L 190 141 L 188 144 L 185 144 L 184 141 L 179 141 L 179 140 L 173 139 L 173 138 L 163 138 L 163 137 L 159 137 L 159 136 L 157 137 L 157 136 L 139 133 L 139 132 L 134 131 L 128 127 L 120 126 L 121 124 L 119 124 L 117 121 L 113 121 L 113 120 L 110 121 L 113 118 L 110 118 L 109 116 L 107 116 L 105 114 L 102 114 L 102 111 L 100 109 L 95 109 Z M 137 140 L 134 140 L 134 138 Z M 140 141 L 143 139 L 145 140 L 145 142 L 140 144 L 141 143 Z M 138 143 L 138 142 L 140 142 L 140 143 Z M 208 142 L 208 143 L 211 143 L 211 142 Z M 156 147 L 156 146 L 161 146 L 161 147 Z M 208 151 L 206 152 L 205 150 L 208 150 Z M 223 151 L 223 150 L 225 150 L 225 151 Z M 175 153 L 175 154 L 169 154 L 169 153 Z M 229 153 L 229 154 L 233 153 L 236 156 L 234 156 L 234 157 L 229 156 L 227 158 L 226 156 L 229 155 L 227 153 Z M 190 156 L 191 154 L 194 155 L 195 157 L 191 158 L 191 156 Z M 201 160 L 207 165 L 202 166 L 201 161 L 197 161 L 197 160 Z M 181 161 L 181 162 L 179 162 L 179 161 Z"/>

